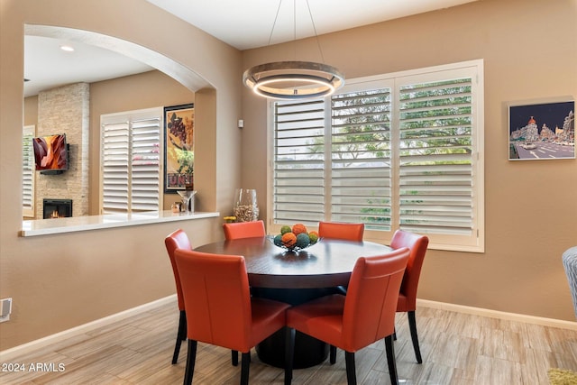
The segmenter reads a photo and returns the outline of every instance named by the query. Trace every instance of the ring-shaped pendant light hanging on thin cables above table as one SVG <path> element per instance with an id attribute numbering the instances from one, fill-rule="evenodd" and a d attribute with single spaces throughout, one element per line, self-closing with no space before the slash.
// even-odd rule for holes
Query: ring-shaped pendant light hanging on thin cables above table
<path id="1" fill-rule="evenodd" d="M 293 0 L 293 9 L 295 13 L 295 44 L 297 40 L 296 1 L 297 0 Z M 313 14 L 310 11 L 308 0 L 306 1 L 308 14 L 310 15 L 310 20 L 313 23 L 313 29 L 315 31 L 316 43 L 321 54 L 321 60 L 325 61 L 323 51 L 321 50 L 320 44 L 318 44 L 318 36 L 316 35 Z M 277 18 L 279 17 L 281 4 L 282 0 L 279 1 L 277 16 L 275 17 L 272 31 L 270 32 L 269 44 L 272 38 L 272 32 L 274 32 L 274 27 L 277 23 Z M 338 69 L 324 63 L 296 60 L 276 61 L 254 66 L 245 70 L 243 74 L 243 83 L 259 96 L 283 100 L 296 100 L 329 96 L 333 94 L 335 90 L 343 87 L 344 76 Z"/>

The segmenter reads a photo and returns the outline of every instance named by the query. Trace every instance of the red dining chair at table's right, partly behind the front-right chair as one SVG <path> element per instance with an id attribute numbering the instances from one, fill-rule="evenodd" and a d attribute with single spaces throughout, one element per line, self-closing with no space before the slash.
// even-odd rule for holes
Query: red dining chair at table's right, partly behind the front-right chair
<path id="1" fill-rule="evenodd" d="M 418 346 L 415 310 L 417 310 L 418 280 L 421 275 L 421 268 L 423 267 L 423 260 L 425 260 L 426 247 L 428 244 L 429 239 L 426 235 L 414 234 L 403 230 L 397 230 L 395 234 L 393 234 L 393 239 L 390 242 L 390 247 L 393 249 L 408 247 L 410 250 L 407 270 L 405 270 L 405 276 L 403 277 L 403 282 L 400 285 L 398 294 L 397 311 L 407 312 L 408 327 L 418 363 L 422 363 L 423 359 Z"/>

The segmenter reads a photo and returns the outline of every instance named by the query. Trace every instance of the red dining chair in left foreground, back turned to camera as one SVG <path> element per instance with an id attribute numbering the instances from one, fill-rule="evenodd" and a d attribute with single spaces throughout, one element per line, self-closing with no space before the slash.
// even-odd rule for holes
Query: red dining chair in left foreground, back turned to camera
<path id="1" fill-rule="evenodd" d="M 244 257 L 177 249 L 187 312 L 188 357 L 184 383 L 192 383 L 197 343 L 243 353 L 241 384 L 248 384 L 252 347 L 284 327 L 288 304 L 251 298 Z"/>

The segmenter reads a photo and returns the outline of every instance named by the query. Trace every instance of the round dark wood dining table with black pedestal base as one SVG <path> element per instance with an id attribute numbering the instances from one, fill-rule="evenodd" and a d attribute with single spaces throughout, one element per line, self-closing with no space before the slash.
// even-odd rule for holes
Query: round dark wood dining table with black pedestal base
<path id="1" fill-rule="evenodd" d="M 197 252 L 243 255 L 252 296 L 280 300 L 292 306 L 334 293 L 344 293 L 359 257 L 383 255 L 389 246 L 372 242 L 321 239 L 299 252 L 286 251 L 270 236 L 208 243 Z M 285 332 L 271 335 L 256 346 L 262 362 L 284 367 Z M 294 368 L 325 361 L 328 345 L 297 332 Z"/>

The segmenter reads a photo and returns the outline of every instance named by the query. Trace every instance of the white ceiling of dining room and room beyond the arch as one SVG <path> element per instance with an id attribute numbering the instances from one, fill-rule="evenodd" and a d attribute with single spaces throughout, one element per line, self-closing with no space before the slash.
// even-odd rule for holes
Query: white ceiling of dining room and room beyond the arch
<path id="1" fill-rule="evenodd" d="M 248 50 L 477 0 L 147 1 L 239 50 Z M 61 45 L 71 45 L 75 50 L 60 50 Z M 119 78 L 151 69 L 137 60 L 92 45 L 31 35 L 24 40 L 24 78 L 30 79 L 24 82 L 24 96 L 37 95 L 52 87 Z"/>

